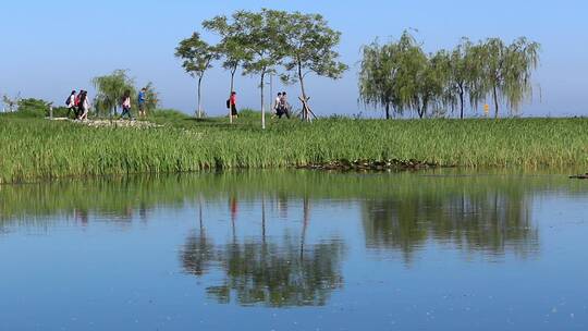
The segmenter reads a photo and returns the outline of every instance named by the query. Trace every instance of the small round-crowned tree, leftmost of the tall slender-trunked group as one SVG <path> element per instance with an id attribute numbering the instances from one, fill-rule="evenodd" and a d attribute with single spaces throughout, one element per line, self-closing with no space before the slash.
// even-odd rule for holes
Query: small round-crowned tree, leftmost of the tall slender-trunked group
<path id="1" fill-rule="evenodd" d="M 212 68 L 212 61 L 219 59 L 217 47 L 208 45 L 194 33 L 192 37 L 180 41 L 175 49 L 175 57 L 183 60 L 182 66 L 193 77 L 198 78 L 198 118 L 203 117 L 201 84 L 207 70 Z"/>

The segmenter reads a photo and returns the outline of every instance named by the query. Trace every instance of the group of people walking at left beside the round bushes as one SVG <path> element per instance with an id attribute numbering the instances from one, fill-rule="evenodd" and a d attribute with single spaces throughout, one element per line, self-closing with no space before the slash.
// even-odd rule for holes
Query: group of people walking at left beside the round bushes
<path id="1" fill-rule="evenodd" d="M 139 117 L 146 117 L 147 110 L 146 110 L 146 94 L 147 89 L 143 88 L 137 96 L 137 105 L 138 105 L 138 113 Z M 76 90 L 72 90 L 72 94 L 68 97 L 65 100 L 65 106 L 68 107 L 68 118 L 71 117 L 72 112 L 76 120 L 87 120 L 88 119 L 88 112 L 90 110 L 90 102 L 88 99 L 88 91 L 87 90 L 79 90 L 77 93 Z M 131 102 L 131 90 L 125 90 L 123 94 L 123 97 L 120 100 L 119 105 L 122 109 L 121 112 L 121 119 L 123 119 L 125 115 L 130 120 L 134 120 L 133 114 L 131 113 L 132 102 Z"/>

